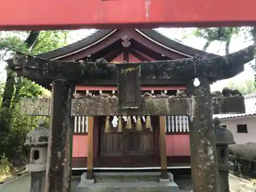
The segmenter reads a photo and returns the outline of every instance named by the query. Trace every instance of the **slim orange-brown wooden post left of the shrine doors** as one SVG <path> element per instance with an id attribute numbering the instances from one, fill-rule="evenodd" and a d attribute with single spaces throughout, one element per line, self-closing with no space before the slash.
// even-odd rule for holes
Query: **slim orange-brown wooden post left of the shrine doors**
<path id="1" fill-rule="evenodd" d="M 87 179 L 94 179 L 93 176 L 93 127 L 94 117 L 88 117 L 88 155 L 87 155 Z"/>

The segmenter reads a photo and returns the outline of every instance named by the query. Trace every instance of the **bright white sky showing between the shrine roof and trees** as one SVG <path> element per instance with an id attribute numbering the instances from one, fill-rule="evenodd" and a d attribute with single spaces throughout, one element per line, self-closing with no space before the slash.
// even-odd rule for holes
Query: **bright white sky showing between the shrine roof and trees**
<path id="1" fill-rule="evenodd" d="M 162 35 L 170 38 L 170 39 L 178 39 L 181 40 L 182 44 L 196 48 L 196 49 L 202 49 L 206 40 L 203 38 L 198 38 L 195 37 L 192 32 L 193 28 L 186 28 L 186 29 L 177 29 L 177 28 L 158 28 L 156 29 L 159 33 Z M 81 29 L 77 31 L 72 31 L 69 39 L 69 44 L 72 44 L 75 41 L 81 40 L 82 38 L 85 38 L 92 33 L 94 33 L 94 29 Z M 185 37 L 185 38 L 183 38 Z M 248 38 L 245 39 L 244 36 L 241 34 L 238 37 L 234 37 L 231 39 L 229 50 L 230 53 L 236 52 L 240 49 L 243 49 L 249 45 L 252 45 L 253 41 Z M 225 55 L 225 44 L 215 41 L 212 42 L 212 44 L 209 46 L 209 48 L 206 50 L 209 53 L 215 53 L 219 55 Z M 254 63 L 254 61 L 252 61 Z M 4 70 L 4 65 L 0 65 L 0 79 L 5 79 L 6 78 L 6 72 Z M 212 84 L 211 90 L 215 91 L 218 90 L 220 91 L 223 87 L 226 86 L 226 84 L 229 81 L 233 82 L 242 82 L 248 79 L 253 79 L 253 71 L 251 67 L 249 66 L 249 63 L 245 65 L 245 71 L 242 72 L 241 74 L 237 75 L 236 77 L 226 79 L 226 80 L 221 80 L 217 81 L 216 83 Z"/>

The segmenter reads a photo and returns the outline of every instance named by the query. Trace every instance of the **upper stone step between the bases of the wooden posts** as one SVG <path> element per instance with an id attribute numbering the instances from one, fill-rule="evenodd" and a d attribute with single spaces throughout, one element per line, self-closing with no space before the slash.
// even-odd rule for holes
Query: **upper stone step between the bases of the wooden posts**
<path id="1" fill-rule="evenodd" d="M 160 172 L 109 172 L 94 173 L 95 182 L 140 182 L 156 181 L 159 182 Z M 168 173 L 169 181 L 173 181 L 173 174 Z M 87 178 L 87 173 L 81 175 L 81 182 Z"/>

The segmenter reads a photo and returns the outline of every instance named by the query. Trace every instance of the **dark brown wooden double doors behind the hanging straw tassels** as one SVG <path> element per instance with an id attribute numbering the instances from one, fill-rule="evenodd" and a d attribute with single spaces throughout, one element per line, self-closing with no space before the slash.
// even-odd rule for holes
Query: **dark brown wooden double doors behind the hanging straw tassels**
<path id="1" fill-rule="evenodd" d="M 142 131 L 137 131 L 133 119 L 132 129 L 125 129 L 126 122 L 123 120 L 122 133 L 118 133 L 118 128 L 111 123 L 110 133 L 105 133 L 105 121 L 101 122 L 99 139 L 101 157 L 145 157 L 155 154 L 154 132 L 145 128 L 144 121 L 142 121 Z"/>

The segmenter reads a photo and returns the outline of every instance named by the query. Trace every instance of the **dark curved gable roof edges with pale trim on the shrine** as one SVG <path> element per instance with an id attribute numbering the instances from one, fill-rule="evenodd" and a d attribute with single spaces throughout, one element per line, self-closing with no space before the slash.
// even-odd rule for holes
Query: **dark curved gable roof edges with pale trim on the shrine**
<path id="1" fill-rule="evenodd" d="M 208 53 L 202 50 L 198 50 L 195 48 L 191 48 L 189 46 L 185 46 L 181 44 L 180 42 L 177 42 L 175 40 L 172 40 L 166 36 L 163 36 L 162 34 L 158 33 L 156 30 L 153 29 L 134 29 L 137 33 L 139 33 L 142 37 L 153 41 L 155 44 L 169 50 L 169 51 L 175 51 L 178 53 L 182 53 L 183 55 L 186 55 L 186 57 L 193 57 L 195 54 L 199 55 L 207 55 L 208 57 L 215 57 L 218 56 L 216 54 Z M 68 46 L 49 51 L 46 53 L 41 53 L 36 56 L 46 59 L 58 59 L 61 60 L 62 57 L 64 57 L 67 54 L 77 53 L 79 51 L 82 51 L 84 49 L 88 49 L 91 46 L 94 46 L 98 44 L 99 42 L 103 41 L 105 38 L 111 36 L 112 34 L 116 33 L 118 30 L 99 30 L 95 32 L 94 34 L 90 35 L 89 37 L 86 37 L 82 40 L 79 40 L 73 44 L 70 44 Z"/>

